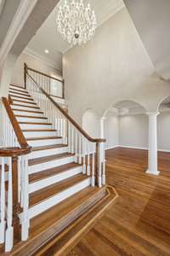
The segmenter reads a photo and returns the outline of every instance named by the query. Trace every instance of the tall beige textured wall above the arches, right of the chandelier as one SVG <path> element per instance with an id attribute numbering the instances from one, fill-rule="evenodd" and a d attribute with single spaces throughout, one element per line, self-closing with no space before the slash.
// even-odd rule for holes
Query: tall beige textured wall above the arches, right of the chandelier
<path id="1" fill-rule="evenodd" d="M 133 100 L 154 111 L 170 95 L 126 8 L 100 26 L 93 41 L 65 53 L 63 73 L 69 112 L 79 123 L 88 108 L 102 116 L 116 102 Z"/>

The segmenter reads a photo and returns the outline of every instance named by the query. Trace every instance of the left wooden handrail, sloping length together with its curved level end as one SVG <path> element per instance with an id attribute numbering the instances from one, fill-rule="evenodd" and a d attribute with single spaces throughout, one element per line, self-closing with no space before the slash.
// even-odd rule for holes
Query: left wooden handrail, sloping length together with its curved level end
<path id="1" fill-rule="evenodd" d="M 20 125 L 14 116 L 13 110 L 10 107 L 8 99 L 6 97 L 2 97 L 2 100 L 3 106 L 8 113 L 8 119 L 10 120 L 10 123 L 13 126 L 15 135 L 20 144 L 20 148 L 0 148 L 0 156 L 16 156 L 31 153 L 31 146 L 26 142 L 26 138 L 24 137 L 24 134 L 20 129 Z"/>

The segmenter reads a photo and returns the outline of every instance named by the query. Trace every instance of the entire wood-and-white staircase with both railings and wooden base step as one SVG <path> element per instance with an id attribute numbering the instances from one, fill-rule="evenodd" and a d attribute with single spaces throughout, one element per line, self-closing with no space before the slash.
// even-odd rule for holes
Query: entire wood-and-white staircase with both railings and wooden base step
<path id="1" fill-rule="evenodd" d="M 105 140 L 89 137 L 54 102 L 44 74 L 25 66 L 25 79 L 26 89 L 11 84 L 3 98 L 2 255 L 33 255 L 66 227 L 79 227 L 79 218 L 88 225 L 92 209 L 99 217 L 116 198 L 105 187 Z"/>

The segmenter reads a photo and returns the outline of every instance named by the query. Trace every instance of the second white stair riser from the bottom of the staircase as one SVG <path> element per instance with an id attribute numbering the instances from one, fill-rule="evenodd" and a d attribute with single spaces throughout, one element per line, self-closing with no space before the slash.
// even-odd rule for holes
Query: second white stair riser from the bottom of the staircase
<path id="1" fill-rule="evenodd" d="M 65 172 L 61 172 L 52 177 L 44 178 L 41 181 L 37 181 L 36 183 L 31 183 L 29 184 L 29 193 L 31 194 L 39 189 L 46 188 L 54 183 L 59 183 L 65 180 L 66 178 L 73 177 L 79 173 L 82 173 L 82 166 L 76 167 Z"/>

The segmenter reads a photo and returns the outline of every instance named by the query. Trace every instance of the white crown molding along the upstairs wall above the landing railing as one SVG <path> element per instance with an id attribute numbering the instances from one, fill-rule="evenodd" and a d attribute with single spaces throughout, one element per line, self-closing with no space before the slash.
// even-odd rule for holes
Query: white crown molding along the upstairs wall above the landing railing
<path id="1" fill-rule="evenodd" d="M 48 65 L 49 67 L 57 69 L 59 73 L 61 73 L 61 69 L 60 67 L 57 67 L 57 63 L 55 61 L 49 60 L 49 58 L 46 58 L 43 55 L 38 54 L 35 50 L 26 47 L 23 53 L 31 56 L 37 61 L 41 61 L 43 64 Z"/>

